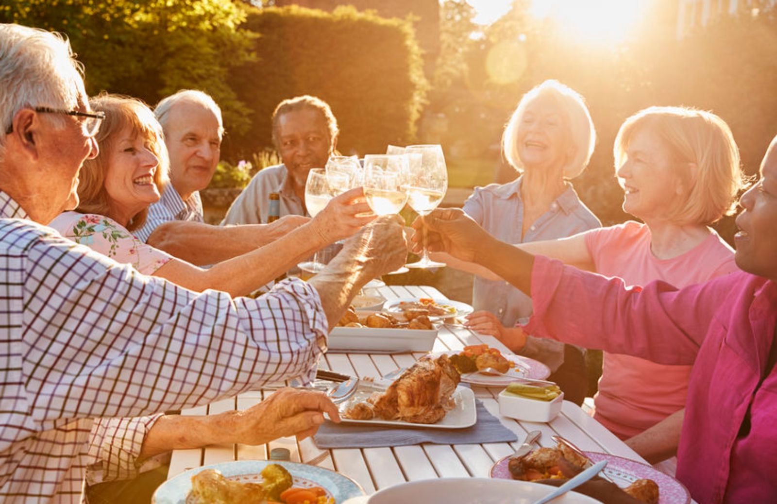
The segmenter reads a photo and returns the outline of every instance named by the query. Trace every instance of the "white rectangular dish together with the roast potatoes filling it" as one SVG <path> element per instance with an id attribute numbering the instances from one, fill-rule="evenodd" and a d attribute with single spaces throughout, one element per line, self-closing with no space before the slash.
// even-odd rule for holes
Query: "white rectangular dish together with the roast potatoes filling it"
<path id="1" fill-rule="evenodd" d="M 389 311 L 350 307 L 329 332 L 326 345 L 340 352 L 428 352 L 437 338 L 437 325 L 425 315 L 407 320 Z"/>

